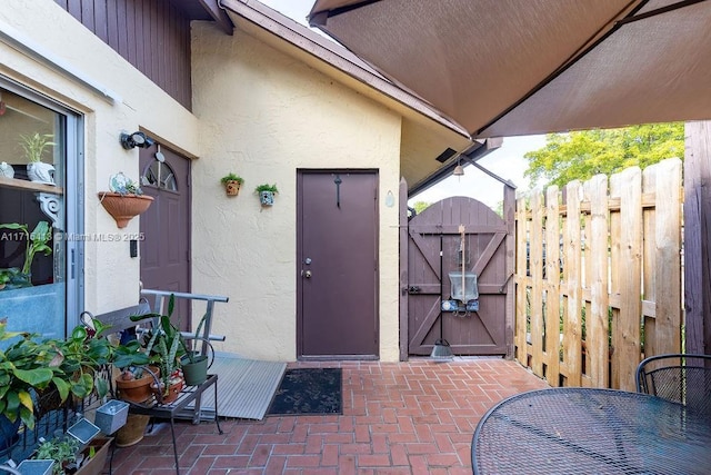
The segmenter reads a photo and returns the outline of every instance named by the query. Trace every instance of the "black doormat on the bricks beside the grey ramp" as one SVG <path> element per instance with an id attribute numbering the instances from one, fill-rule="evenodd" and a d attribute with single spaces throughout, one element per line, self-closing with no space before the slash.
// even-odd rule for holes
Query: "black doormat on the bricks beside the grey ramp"
<path id="1" fill-rule="evenodd" d="M 341 368 L 287 369 L 267 415 L 343 414 Z"/>

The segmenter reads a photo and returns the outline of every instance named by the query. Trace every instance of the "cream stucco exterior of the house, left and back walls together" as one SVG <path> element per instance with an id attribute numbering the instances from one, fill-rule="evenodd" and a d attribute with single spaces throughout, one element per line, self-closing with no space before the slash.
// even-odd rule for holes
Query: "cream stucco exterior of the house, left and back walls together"
<path id="1" fill-rule="evenodd" d="M 143 130 L 191 158 L 190 290 L 230 298 L 216 306 L 212 333 L 227 336 L 217 350 L 293 360 L 297 170 L 377 170 L 379 357 L 397 360 L 399 215 L 397 202 L 385 206 L 385 196 L 391 191 L 397 200 L 400 166 L 412 159 L 413 144 L 441 149 L 450 142 L 461 146 L 463 138 L 402 101 L 381 98 L 375 88 L 328 62 L 293 53 L 299 52 L 293 44 L 274 48 L 281 41 L 276 37 L 264 41 L 239 28 L 227 36 L 210 22 L 191 26 L 192 112 L 53 1 L 3 1 L 0 76 L 82 118 L 83 155 L 69 159 L 83 164 L 83 232 L 139 232 L 140 218 L 117 229 L 97 198 L 118 171 L 139 178 L 138 149 L 122 149 L 121 132 Z M 13 47 L 7 38 L 24 47 Z M 53 68 L 57 62 L 67 70 Z M 324 73 L 329 68 L 336 72 Z M 97 88 L 87 87 L 87 80 Z M 237 198 L 228 198 L 220 184 L 230 171 L 246 179 Z M 262 208 L 253 192 L 263 182 L 279 187 L 271 208 Z M 87 310 L 102 314 L 138 301 L 140 260 L 130 257 L 128 241 L 88 239 L 84 260 L 78 264 Z"/>

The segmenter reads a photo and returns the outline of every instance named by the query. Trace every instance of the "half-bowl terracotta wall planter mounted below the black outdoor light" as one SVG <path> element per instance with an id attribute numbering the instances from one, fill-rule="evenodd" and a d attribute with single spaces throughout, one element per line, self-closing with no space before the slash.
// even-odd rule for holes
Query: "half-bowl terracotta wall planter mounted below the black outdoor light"
<path id="1" fill-rule="evenodd" d="M 153 197 L 144 196 L 138 182 L 122 172 L 111 177 L 109 189 L 100 191 L 99 199 L 119 228 L 127 227 L 133 217 L 146 211 L 153 202 Z"/>

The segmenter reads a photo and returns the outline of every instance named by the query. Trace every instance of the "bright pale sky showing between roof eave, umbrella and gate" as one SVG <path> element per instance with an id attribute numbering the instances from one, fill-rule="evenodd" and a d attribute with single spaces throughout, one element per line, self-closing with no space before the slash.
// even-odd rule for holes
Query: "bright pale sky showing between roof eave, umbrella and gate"
<path id="1" fill-rule="evenodd" d="M 293 20 L 307 24 L 307 16 L 314 0 L 260 0 L 266 6 L 286 14 Z M 318 30 L 314 30 L 318 31 Z M 523 177 L 528 162 L 523 158 L 527 151 L 538 150 L 545 145 L 545 136 L 504 137 L 503 145 L 495 151 L 478 161 L 494 175 L 511 181 L 517 192 L 529 189 L 529 181 Z M 449 177 L 435 186 L 410 198 L 409 205 L 415 201 L 435 202 L 452 196 L 467 196 L 497 208 L 503 200 L 503 185 L 472 166 L 464 167 L 463 177 Z"/>

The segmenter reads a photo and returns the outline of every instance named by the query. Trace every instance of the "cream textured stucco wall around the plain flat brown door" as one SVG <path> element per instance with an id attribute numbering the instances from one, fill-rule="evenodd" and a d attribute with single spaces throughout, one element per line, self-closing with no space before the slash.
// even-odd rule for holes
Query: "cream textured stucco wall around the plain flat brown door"
<path id="1" fill-rule="evenodd" d="M 230 297 L 216 307 L 218 350 L 297 356 L 298 168 L 379 170 L 380 359 L 398 359 L 398 196 L 401 117 L 301 61 L 237 30 L 193 23 L 193 111 L 203 159 L 193 164 L 193 291 Z M 228 198 L 220 177 L 246 182 Z M 277 184 L 271 208 L 254 187 Z M 218 308 L 219 307 L 219 308 Z"/>

